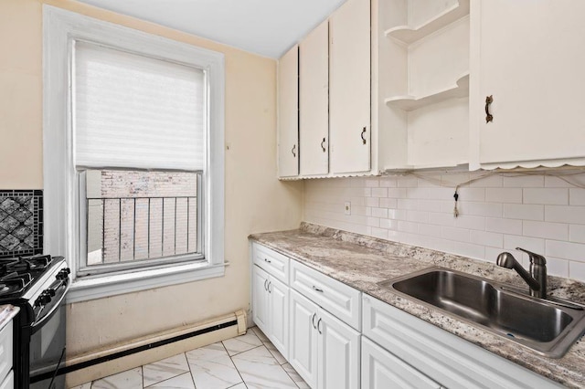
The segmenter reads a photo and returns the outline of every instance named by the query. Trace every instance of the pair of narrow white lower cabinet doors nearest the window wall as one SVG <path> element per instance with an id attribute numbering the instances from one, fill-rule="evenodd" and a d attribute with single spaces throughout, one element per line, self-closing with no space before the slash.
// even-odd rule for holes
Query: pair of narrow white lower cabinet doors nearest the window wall
<path id="1" fill-rule="evenodd" d="M 252 320 L 284 358 L 289 344 L 289 287 L 268 272 L 252 268 Z"/>

